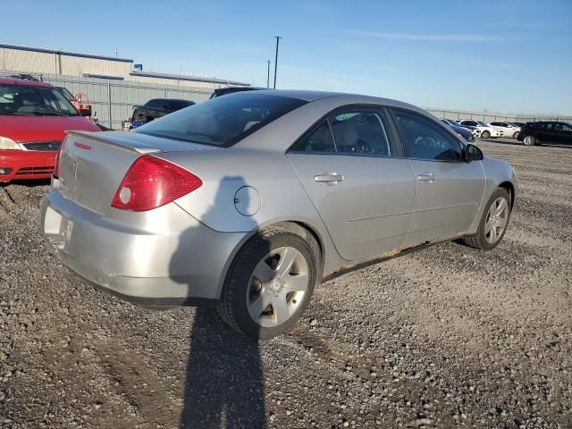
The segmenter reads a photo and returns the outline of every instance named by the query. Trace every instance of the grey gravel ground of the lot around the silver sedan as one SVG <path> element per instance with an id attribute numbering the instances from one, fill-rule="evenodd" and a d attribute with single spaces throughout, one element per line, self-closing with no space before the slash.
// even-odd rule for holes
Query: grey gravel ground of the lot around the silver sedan
<path id="1" fill-rule="evenodd" d="M 572 427 L 572 149 L 509 141 L 480 143 L 521 187 L 498 248 L 324 283 L 260 344 L 93 289 L 43 243 L 46 184 L 0 189 L 0 427 Z"/>

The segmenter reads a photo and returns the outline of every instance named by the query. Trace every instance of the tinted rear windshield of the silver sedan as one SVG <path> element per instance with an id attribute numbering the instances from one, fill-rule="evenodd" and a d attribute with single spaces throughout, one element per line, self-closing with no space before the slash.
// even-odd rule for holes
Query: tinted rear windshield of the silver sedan
<path id="1" fill-rule="evenodd" d="M 251 93 L 233 94 L 216 97 L 168 114 L 139 127 L 135 132 L 229 147 L 305 104 L 307 101 L 298 98 Z"/>

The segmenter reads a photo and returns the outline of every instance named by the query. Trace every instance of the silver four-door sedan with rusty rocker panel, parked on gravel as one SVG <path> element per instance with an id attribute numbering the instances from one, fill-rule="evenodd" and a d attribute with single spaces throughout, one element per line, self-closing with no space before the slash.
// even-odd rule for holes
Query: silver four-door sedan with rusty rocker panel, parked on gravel
<path id="1" fill-rule="evenodd" d="M 147 306 L 213 306 L 256 338 L 315 285 L 443 240 L 495 248 L 517 194 L 432 115 L 310 91 L 217 97 L 135 132 L 70 132 L 42 203 L 64 265 Z"/>

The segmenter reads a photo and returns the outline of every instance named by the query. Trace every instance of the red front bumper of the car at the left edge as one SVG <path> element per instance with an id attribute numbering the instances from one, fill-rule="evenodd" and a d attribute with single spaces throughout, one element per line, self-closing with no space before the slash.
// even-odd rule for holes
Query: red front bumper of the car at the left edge
<path id="1" fill-rule="evenodd" d="M 54 172 L 55 152 L 0 150 L 0 182 L 49 179 Z"/>

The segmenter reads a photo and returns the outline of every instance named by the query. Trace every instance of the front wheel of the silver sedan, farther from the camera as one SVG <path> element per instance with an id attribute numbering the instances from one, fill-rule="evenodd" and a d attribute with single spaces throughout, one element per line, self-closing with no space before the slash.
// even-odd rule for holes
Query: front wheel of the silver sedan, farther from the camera
<path id="1" fill-rule="evenodd" d="M 504 203 L 500 203 L 500 201 L 504 201 Z M 499 206 L 499 204 L 506 205 L 503 206 L 505 208 L 503 208 L 501 212 L 501 206 Z M 496 248 L 499 243 L 501 243 L 509 227 L 511 212 L 512 206 L 510 204 L 509 191 L 504 188 L 496 189 L 484 207 L 483 215 L 481 216 L 475 234 L 463 237 L 463 244 L 470 248 L 478 248 L 479 250 L 492 250 L 492 248 Z M 499 227 L 499 225 L 502 225 L 500 219 L 504 221 L 504 227 L 502 228 Z"/>

